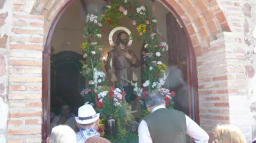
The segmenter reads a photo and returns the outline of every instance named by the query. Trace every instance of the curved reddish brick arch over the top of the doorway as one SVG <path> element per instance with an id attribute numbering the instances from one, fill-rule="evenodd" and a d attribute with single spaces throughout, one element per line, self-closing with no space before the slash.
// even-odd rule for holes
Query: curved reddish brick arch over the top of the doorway
<path id="1" fill-rule="evenodd" d="M 66 9 L 75 0 L 37 0 L 31 14 L 44 16 L 44 32 L 48 35 L 57 14 Z M 196 56 L 203 54 L 203 49 L 210 47 L 210 41 L 217 39 L 219 32 L 230 32 L 226 14 L 221 10 L 218 0 L 158 0 L 179 19 L 190 36 Z M 46 36 L 45 36 L 46 39 Z M 46 40 L 44 40 L 44 43 Z"/>

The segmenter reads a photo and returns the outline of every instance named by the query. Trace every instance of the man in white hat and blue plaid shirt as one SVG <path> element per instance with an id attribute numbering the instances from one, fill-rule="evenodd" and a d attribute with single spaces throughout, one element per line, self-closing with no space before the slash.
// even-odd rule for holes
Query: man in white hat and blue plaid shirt
<path id="1" fill-rule="evenodd" d="M 77 133 L 77 143 L 109 143 L 109 140 L 100 137 L 97 131 L 100 124 L 100 113 L 96 113 L 91 104 L 85 104 L 78 109 L 78 117 L 75 120 L 80 124 L 80 131 Z"/>

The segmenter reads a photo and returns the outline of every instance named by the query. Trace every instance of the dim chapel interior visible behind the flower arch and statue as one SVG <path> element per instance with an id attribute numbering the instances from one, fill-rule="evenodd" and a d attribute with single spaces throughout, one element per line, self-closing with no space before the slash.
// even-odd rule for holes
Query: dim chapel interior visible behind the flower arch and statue
<path id="1" fill-rule="evenodd" d="M 176 21 L 174 15 L 158 1 L 152 2 L 139 0 L 140 3 L 155 5 L 156 10 L 152 11 L 158 21 L 158 29 L 163 38 L 169 44 L 169 51 L 163 55 L 162 61 L 166 65 L 176 65 L 183 71 L 183 77 L 188 79 L 187 59 L 185 52 L 185 34 L 183 28 Z M 85 26 L 86 14 L 93 10 L 100 10 L 104 5 L 102 0 L 77 0 L 72 3 L 62 14 L 57 22 L 53 37 L 51 39 L 51 112 L 60 113 L 59 107 L 63 102 L 71 104 L 72 111 L 77 114 L 77 108 L 84 104 L 80 91 L 86 88 L 88 81 L 80 75 L 80 60 L 83 60 L 81 44 L 85 41 L 83 29 Z M 143 50 L 143 41 L 139 39 L 136 26 L 132 25 L 127 17 L 120 19 L 120 26 L 131 30 L 134 41 L 131 50 L 140 57 Z M 109 32 L 113 28 L 104 26 L 105 34 L 102 34 L 100 44 L 104 45 L 102 52 L 107 58 L 107 52 L 113 47 L 109 45 Z M 117 32 L 116 32 L 117 34 Z M 116 35 L 113 36 L 116 41 Z M 138 85 L 141 85 L 140 69 L 134 69 L 138 75 Z M 104 62 L 102 62 L 102 71 Z M 166 87 L 168 83 L 166 82 Z"/>

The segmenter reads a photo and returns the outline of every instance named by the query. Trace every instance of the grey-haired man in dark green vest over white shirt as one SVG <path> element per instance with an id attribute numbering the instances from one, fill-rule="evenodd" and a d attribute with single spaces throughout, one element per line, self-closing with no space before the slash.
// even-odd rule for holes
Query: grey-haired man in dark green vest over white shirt
<path id="1" fill-rule="evenodd" d="M 151 112 L 138 127 L 139 143 L 185 143 L 186 134 L 196 143 L 208 143 L 209 135 L 181 111 L 166 109 L 159 91 L 145 100 Z"/>

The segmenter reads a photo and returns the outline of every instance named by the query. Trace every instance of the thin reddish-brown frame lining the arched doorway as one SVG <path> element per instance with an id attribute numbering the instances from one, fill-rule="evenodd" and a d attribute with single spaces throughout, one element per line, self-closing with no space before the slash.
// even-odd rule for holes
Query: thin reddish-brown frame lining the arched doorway
<path id="1" fill-rule="evenodd" d="M 44 45 L 44 52 L 43 52 L 43 68 L 42 68 L 42 76 L 43 76 L 43 85 L 42 85 L 42 140 L 43 142 L 46 142 L 46 138 L 49 135 L 49 128 L 50 128 L 50 107 L 51 107 L 51 39 L 53 36 L 53 32 L 55 30 L 55 27 L 57 25 L 57 22 L 60 20 L 60 17 L 68 8 L 69 5 L 71 5 L 75 0 L 68 0 L 68 2 L 65 3 L 65 5 L 60 9 L 60 11 L 57 13 L 55 19 L 53 20 L 53 23 L 51 24 L 51 28 L 48 31 L 48 35 L 46 37 L 46 43 Z M 181 26 L 186 29 L 185 24 L 183 23 L 181 17 L 179 17 L 179 14 L 172 8 L 172 5 L 168 3 L 165 0 L 158 0 L 160 3 L 163 3 L 172 14 L 174 14 L 174 17 L 179 20 L 181 23 Z M 190 35 L 188 34 L 188 30 L 184 30 L 185 37 L 187 42 L 186 48 L 186 55 L 187 55 L 187 63 L 188 63 L 188 81 L 190 86 L 190 91 L 194 91 L 193 93 L 190 93 L 190 100 L 193 100 L 192 104 L 190 104 L 190 113 L 194 112 L 194 115 L 190 115 L 192 119 L 194 119 L 199 124 L 199 94 L 198 94 L 198 83 L 197 83 L 197 71 L 196 71 L 196 55 L 194 53 L 194 49 L 192 48 L 192 41 L 190 39 Z"/>

